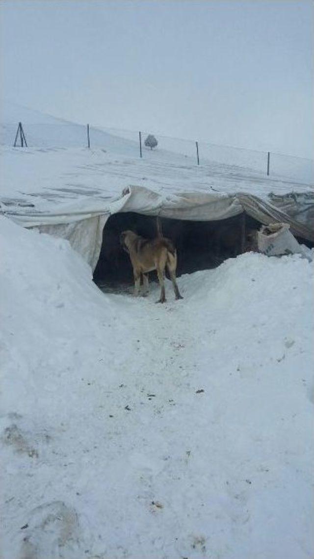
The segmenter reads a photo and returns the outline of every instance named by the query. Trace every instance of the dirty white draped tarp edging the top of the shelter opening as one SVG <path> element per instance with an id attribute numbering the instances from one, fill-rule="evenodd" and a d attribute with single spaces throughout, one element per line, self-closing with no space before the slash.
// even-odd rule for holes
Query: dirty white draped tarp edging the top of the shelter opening
<path id="1" fill-rule="evenodd" d="M 245 192 L 171 192 L 129 186 L 119 197 L 78 198 L 49 210 L 35 205 L 2 205 L 2 212 L 26 228 L 68 239 L 94 270 L 103 230 L 110 216 L 135 212 L 184 221 L 226 220 L 245 212 L 261 224 L 283 221 L 298 238 L 314 243 L 314 192 L 287 193 L 259 198 Z"/>

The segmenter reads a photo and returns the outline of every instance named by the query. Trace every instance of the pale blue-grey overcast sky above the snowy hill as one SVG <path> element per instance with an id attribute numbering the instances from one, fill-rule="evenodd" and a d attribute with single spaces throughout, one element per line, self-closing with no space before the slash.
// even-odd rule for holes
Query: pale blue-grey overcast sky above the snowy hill
<path id="1" fill-rule="evenodd" d="M 307 0 L 2 0 L 1 73 L 68 120 L 313 156 Z"/>

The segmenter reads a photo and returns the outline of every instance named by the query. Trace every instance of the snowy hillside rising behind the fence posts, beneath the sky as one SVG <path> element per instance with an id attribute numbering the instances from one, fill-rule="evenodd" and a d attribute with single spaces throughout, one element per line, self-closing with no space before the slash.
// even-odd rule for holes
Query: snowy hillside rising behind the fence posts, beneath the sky
<path id="1" fill-rule="evenodd" d="M 13 145 L 20 121 L 29 148 L 46 151 L 88 146 L 87 125 L 44 115 L 8 101 L 0 103 L 0 107 L 0 146 Z M 158 135 L 158 148 L 150 150 L 144 146 L 147 134 L 142 134 L 143 158 L 147 163 L 170 165 L 179 173 L 181 169 L 189 171 L 197 166 L 194 141 Z M 134 159 L 134 163 L 140 163 L 138 132 L 90 126 L 90 145 L 92 150 L 101 149 L 111 157 L 128 157 Z M 210 174 L 231 174 L 237 179 L 256 176 L 264 181 L 283 179 L 296 184 L 314 182 L 314 163 L 309 159 L 271 154 L 271 176 L 267 177 L 267 153 L 205 142 L 199 142 L 199 153 L 203 172 Z"/>

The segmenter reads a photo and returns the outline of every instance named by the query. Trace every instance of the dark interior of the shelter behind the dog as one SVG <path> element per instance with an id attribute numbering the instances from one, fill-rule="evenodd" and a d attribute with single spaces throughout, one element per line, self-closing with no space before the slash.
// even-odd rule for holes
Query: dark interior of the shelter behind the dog
<path id="1" fill-rule="evenodd" d="M 256 250 L 256 231 L 261 223 L 240 214 L 220 221 L 184 221 L 158 218 L 161 233 L 171 239 L 177 250 L 177 277 L 181 274 L 219 266 L 247 250 Z M 122 231 L 132 230 L 146 239 L 157 236 L 157 217 L 135 212 L 114 214 L 104 227 L 102 247 L 93 278 L 97 284 L 114 286 L 133 283 L 129 255 L 120 244 Z M 167 272 L 166 272 L 167 276 Z M 157 281 L 156 272 L 150 272 Z"/>

